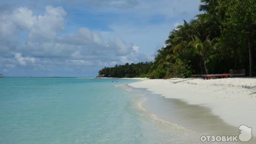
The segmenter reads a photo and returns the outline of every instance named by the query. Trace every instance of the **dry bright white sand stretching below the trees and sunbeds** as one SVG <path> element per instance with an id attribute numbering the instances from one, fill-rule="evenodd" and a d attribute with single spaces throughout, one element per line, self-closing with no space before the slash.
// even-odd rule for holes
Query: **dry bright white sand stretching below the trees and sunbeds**
<path id="1" fill-rule="evenodd" d="M 213 115 L 234 127 L 244 124 L 256 136 L 256 78 L 147 79 L 129 86 L 145 88 L 165 98 L 207 107 Z"/>

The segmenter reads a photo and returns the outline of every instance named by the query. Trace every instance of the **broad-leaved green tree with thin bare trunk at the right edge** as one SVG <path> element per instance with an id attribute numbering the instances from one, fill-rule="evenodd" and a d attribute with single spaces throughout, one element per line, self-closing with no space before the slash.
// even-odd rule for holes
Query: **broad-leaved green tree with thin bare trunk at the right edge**
<path id="1" fill-rule="evenodd" d="M 256 1 L 255 0 L 228 0 L 227 19 L 222 23 L 221 42 L 237 43 L 240 52 L 247 47 L 249 57 L 250 77 L 253 76 L 253 51 L 256 38 Z"/>

